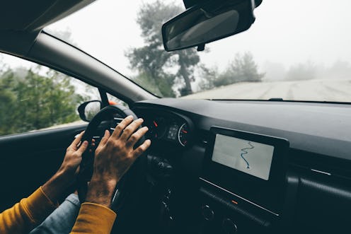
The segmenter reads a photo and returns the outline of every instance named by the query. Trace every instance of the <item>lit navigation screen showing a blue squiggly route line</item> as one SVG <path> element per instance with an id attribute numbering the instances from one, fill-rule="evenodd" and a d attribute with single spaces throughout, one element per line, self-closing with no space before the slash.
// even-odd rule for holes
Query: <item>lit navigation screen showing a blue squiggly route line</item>
<path id="1" fill-rule="evenodd" d="M 274 147 L 216 134 L 212 161 L 268 180 Z"/>

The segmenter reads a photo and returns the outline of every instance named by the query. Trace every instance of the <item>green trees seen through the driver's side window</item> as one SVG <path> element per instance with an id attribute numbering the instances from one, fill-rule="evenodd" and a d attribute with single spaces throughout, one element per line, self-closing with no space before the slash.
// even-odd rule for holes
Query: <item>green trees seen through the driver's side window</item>
<path id="1" fill-rule="evenodd" d="M 50 127 L 79 119 L 76 94 L 69 76 L 40 66 L 24 76 L 8 69 L 0 76 L 0 135 Z"/>

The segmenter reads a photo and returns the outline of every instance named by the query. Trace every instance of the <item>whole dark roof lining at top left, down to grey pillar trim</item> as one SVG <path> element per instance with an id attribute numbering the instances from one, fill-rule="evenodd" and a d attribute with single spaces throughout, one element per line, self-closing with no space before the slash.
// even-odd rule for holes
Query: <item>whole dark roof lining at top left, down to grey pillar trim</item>
<path id="1" fill-rule="evenodd" d="M 7 0 L 0 8 L 0 52 L 26 58 L 45 26 L 94 0 Z"/>

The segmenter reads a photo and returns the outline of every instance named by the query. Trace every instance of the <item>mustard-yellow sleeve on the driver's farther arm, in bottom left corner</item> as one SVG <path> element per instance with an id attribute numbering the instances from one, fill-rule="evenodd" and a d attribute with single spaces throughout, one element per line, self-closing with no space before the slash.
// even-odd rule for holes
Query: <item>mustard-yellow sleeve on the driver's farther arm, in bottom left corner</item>
<path id="1" fill-rule="evenodd" d="M 42 192 L 42 187 L 37 189 L 28 198 L 0 213 L 0 233 L 29 233 L 49 216 L 56 206 Z"/>

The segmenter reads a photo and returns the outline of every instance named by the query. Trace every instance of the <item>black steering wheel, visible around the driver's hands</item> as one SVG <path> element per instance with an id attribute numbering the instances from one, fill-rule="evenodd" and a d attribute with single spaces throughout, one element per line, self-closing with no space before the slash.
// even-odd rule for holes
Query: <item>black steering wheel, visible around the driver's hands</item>
<path id="1" fill-rule="evenodd" d="M 115 118 L 114 116 L 116 115 L 122 118 Z M 96 114 L 95 117 L 93 117 L 93 119 L 91 119 L 91 122 L 89 122 L 88 127 L 86 127 L 86 131 L 84 132 L 84 136 L 82 136 L 81 141 L 88 141 L 89 146 L 91 146 L 93 136 L 96 136 L 100 124 L 102 124 L 103 122 L 111 121 L 120 122 L 122 119 L 129 115 L 132 115 L 134 120 L 137 119 L 137 115 L 135 115 L 134 112 L 132 112 L 132 110 L 122 105 L 109 105 L 107 107 L 104 107 L 102 110 L 100 110 L 100 112 L 98 112 L 98 114 Z M 117 121 L 113 121 L 116 119 Z M 142 139 L 139 139 L 139 141 L 137 142 L 137 144 L 135 144 L 134 147 L 141 145 L 144 141 L 145 138 L 143 136 Z M 78 195 L 81 203 L 83 203 L 86 199 L 86 192 L 88 191 L 88 182 L 90 182 L 91 176 L 93 175 L 94 154 L 94 151 L 85 151 L 82 156 L 78 175 Z M 126 203 L 126 199 L 133 197 L 133 194 L 134 196 L 137 196 L 135 194 L 136 191 L 134 190 L 137 190 L 138 187 L 142 187 L 140 185 L 142 182 L 138 179 L 138 177 L 141 177 L 144 174 L 143 172 L 145 170 L 146 157 L 140 156 L 139 158 L 137 158 L 137 160 L 135 160 L 134 164 L 130 167 L 130 170 L 128 170 L 117 183 L 113 200 L 111 201 L 111 209 L 113 209 L 114 211 L 120 211 L 123 209 L 123 206 Z"/>

